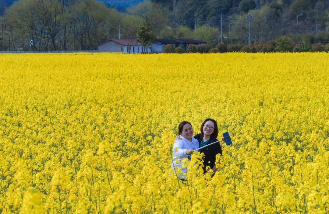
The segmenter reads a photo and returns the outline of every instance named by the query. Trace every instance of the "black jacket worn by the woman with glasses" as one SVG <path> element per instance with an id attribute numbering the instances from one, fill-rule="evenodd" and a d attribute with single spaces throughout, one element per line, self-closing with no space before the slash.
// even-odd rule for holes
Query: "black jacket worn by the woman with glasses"
<path id="1" fill-rule="evenodd" d="M 197 134 L 194 136 L 195 139 L 199 141 L 199 144 L 201 143 L 201 134 Z M 218 141 L 216 138 L 210 138 L 209 143 L 213 143 Z M 200 152 L 205 154 L 204 160 L 203 160 L 203 171 L 206 171 L 206 166 L 210 166 L 212 169 L 215 166 L 215 159 L 216 155 L 220 154 L 222 155 L 222 147 L 220 146 L 220 143 L 214 143 L 213 145 L 210 145 L 206 148 L 203 148 L 200 150 Z"/>

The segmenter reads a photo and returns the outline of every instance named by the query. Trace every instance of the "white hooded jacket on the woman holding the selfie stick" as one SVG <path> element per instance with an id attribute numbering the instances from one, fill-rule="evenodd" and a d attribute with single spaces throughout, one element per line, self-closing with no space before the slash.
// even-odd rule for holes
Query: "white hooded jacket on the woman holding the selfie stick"
<path id="1" fill-rule="evenodd" d="M 171 162 L 171 168 L 174 170 L 177 170 L 178 168 L 181 168 L 181 174 L 178 174 L 179 179 L 185 180 L 185 173 L 186 173 L 186 167 L 182 168 L 182 160 L 184 158 L 187 158 L 191 160 L 191 155 L 186 154 L 186 150 L 188 149 L 197 149 L 199 148 L 199 141 L 192 137 L 192 142 L 190 142 L 188 139 L 184 138 L 183 136 L 179 136 L 181 140 L 175 140 L 174 146 L 172 148 L 174 156 L 172 157 Z M 176 151 L 177 148 L 177 151 Z M 177 163 L 176 163 L 177 161 Z M 175 168 L 174 168 L 175 167 Z"/>

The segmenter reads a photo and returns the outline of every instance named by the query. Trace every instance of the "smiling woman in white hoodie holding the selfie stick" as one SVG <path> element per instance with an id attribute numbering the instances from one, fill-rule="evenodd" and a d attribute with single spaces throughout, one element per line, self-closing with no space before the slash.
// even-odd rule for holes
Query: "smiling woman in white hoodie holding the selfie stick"
<path id="1" fill-rule="evenodd" d="M 181 169 L 181 173 L 177 174 L 181 180 L 186 180 L 186 167 L 182 168 L 182 160 L 191 159 L 193 151 L 199 148 L 199 141 L 193 137 L 193 128 L 190 122 L 183 121 L 178 125 L 178 135 L 181 139 L 176 139 L 172 148 L 173 158 L 171 168 L 177 171 Z"/>

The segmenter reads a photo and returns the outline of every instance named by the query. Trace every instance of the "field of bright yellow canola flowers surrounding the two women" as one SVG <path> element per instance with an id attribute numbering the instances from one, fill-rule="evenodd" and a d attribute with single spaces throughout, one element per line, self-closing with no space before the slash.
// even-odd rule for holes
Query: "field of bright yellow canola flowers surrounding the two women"
<path id="1" fill-rule="evenodd" d="M 328 213 L 328 57 L 2 54 L 0 213 Z M 181 182 L 206 118 L 233 144 Z"/>

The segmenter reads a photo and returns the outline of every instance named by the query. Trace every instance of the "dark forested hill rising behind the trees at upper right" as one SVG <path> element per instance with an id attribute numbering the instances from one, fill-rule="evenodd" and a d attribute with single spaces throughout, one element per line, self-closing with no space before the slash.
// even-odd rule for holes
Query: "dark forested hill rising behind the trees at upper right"
<path id="1" fill-rule="evenodd" d="M 241 15 L 251 10 L 270 10 L 271 18 L 328 14 L 329 0 L 155 0 L 168 7 L 170 19 L 178 23 L 194 21 L 194 18 L 209 20 L 226 15 Z M 327 13 L 325 13 L 327 12 Z"/>

